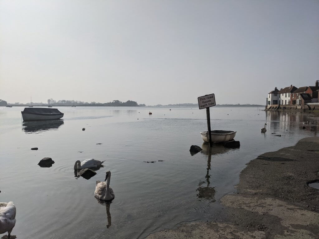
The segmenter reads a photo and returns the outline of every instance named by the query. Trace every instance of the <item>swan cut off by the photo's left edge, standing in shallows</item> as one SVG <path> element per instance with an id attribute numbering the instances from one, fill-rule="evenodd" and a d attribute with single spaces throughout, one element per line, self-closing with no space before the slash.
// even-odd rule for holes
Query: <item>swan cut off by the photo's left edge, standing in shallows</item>
<path id="1" fill-rule="evenodd" d="M 0 234 L 8 232 L 8 238 L 16 225 L 16 206 L 13 202 L 0 202 Z"/>

